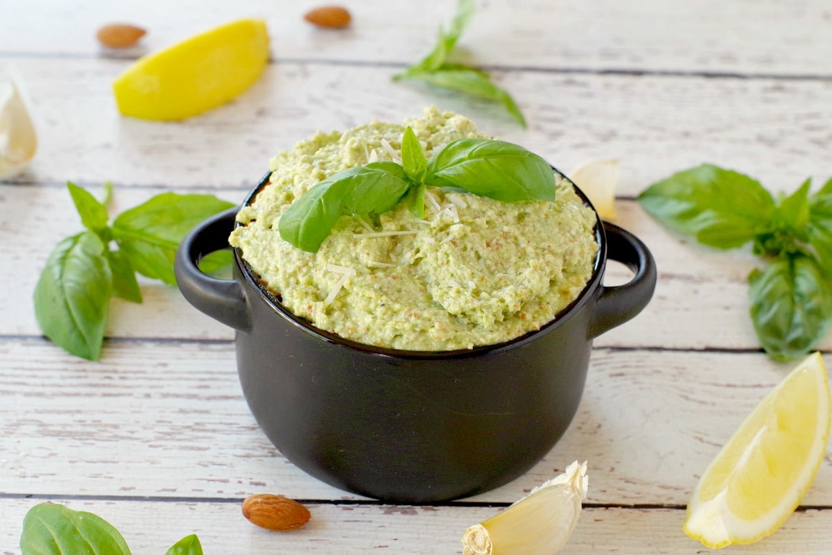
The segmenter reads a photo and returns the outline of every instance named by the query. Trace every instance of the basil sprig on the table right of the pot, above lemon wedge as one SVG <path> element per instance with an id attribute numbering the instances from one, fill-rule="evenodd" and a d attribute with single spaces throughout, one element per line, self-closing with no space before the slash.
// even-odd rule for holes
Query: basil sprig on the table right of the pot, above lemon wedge
<path id="1" fill-rule="evenodd" d="M 832 179 L 814 195 L 810 186 L 775 199 L 759 181 L 706 164 L 638 197 L 651 216 L 705 245 L 753 245 L 766 264 L 748 276 L 751 321 L 778 360 L 804 356 L 832 322 Z"/>

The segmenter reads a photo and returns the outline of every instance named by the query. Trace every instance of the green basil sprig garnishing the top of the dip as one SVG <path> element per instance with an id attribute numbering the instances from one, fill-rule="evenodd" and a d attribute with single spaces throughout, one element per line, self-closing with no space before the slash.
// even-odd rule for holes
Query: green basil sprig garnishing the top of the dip
<path id="1" fill-rule="evenodd" d="M 340 216 L 375 219 L 405 199 L 409 210 L 421 217 L 428 186 L 456 187 L 498 201 L 554 201 L 557 180 L 542 157 L 504 141 L 460 139 L 426 160 L 408 127 L 401 165 L 372 162 L 329 176 L 286 209 L 278 230 L 291 245 L 316 252 Z"/>

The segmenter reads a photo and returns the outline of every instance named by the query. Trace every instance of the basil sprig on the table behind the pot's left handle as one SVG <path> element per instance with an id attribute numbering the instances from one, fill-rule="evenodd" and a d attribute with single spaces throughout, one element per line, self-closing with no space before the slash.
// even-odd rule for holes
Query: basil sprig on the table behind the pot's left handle
<path id="1" fill-rule="evenodd" d="M 67 187 L 87 229 L 62 240 L 49 255 L 35 286 L 35 316 L 52 342 L 97 360 L 112 296 L 141 303 L 136 272 L 176 285 L 173 260 L 179 242 L 196 224 L 234 205 L 211 195 L 168 192 L 122 212 L 109 225 L 110 184 L 103 201 L 72 182 Z M 215 255 L 206 257 L 203 270 L 229 261 L 228 253 Z"/>

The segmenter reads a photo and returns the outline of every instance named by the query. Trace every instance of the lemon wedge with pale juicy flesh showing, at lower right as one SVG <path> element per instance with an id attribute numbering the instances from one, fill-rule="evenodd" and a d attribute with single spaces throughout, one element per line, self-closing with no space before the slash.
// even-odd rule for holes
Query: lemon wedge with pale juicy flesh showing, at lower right
<path id="1" fill-rule="evenodd" d="M 716 549 L 775 532 L 815 479 L 829 434 L 829 381 L 815 353 L 760 401 L 708 466 L 685 533 Z"/>

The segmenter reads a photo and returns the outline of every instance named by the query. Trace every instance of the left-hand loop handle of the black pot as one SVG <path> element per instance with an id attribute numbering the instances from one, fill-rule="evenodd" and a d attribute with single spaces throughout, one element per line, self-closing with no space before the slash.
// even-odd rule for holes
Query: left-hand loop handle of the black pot
<path id="1" fill-rule="evenodd" d="M 229 248 L 236 213 L 230 208 L 191 230 L 176 250 L 174 271 L 176 285 L 191 305 L 235 330 L 248 331 L 249 310 L 240 282 L 211 277 L 199 268 L 203 256 Z"/>

